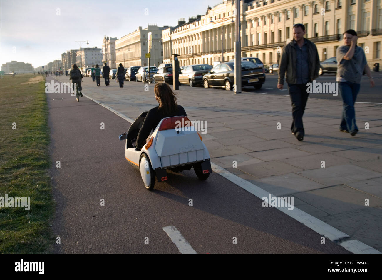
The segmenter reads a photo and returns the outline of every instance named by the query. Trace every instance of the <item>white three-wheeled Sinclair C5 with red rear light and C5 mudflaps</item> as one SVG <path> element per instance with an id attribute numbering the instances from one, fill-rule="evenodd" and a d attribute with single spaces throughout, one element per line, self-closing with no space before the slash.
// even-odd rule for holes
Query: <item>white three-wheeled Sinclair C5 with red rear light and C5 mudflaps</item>
<path id="1" fill-rule="evenodd" d="M 193 167 L 197 177 L 206 180 L 212 172 L 210 155 L 186 116 L 163 118 L 147 138 L 146 145 L 141 150 L 135 148 L 146 114 L 143 112 L 128 132 L 119 136 L 120 140 L 126 139 L 125 158 L 141 172 L 146 189 L 154 189 L 155 176 L 158 182 L 166 181 L 167 170 L 179 172 Z"/>

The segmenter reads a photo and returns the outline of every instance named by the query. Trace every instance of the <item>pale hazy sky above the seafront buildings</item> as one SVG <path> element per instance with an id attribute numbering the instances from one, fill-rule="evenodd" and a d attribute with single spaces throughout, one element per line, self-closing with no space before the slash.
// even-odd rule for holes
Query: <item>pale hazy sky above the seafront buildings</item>
<path id="1" fill-rule="evenodd" d="M 176 26 L 204 15 L 223 0 L 1 0 L 0 65 L 16 60 L 44 66 L 67 50 L 102 48 L 104 36 L 121 38 L 148 24 Z M 148 10 L 145 10 L 148 9 Z M 146 14 L 145 15 L 145 11 Z"/>

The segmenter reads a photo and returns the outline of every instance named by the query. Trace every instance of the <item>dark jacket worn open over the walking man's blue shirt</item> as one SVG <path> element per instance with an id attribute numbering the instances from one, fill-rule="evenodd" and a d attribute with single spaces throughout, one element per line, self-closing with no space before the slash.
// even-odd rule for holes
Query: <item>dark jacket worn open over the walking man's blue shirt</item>
<path id="1" fill-rule="evenodd" d="M 309 79 L 311 81 L 316 80 L 318 77 L 318 71 L 320 69 L 320 58 L 318 56 L 318 51 L 316 45 L 304 38 L 307 43 L 308 50 L 308 63 L 309 63 Z M 283 47 L 281 53 L 280 62 L 278 65 L 278 83 L 284 84 L 284 75 L 286 71 L 286 82 L 290 84 L 297 83 L 296 77 L 296 48 L 295 40 L 293 39 L 288 45 Z"/>

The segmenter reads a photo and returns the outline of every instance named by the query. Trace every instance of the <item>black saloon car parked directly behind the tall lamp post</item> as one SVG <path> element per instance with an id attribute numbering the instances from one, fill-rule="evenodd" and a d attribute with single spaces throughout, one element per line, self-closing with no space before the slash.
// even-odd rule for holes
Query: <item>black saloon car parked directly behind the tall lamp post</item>
<path id="1" fill-rule="evenodd" d="M 265 70 L 250 61 L 241 61 L 241 85 L 254 86 L 259 90 L 265 82 Z M 220 63 L 203 76 L 205 88 L 217 87 L 232 90 L 235 82 L 235 64 L 233 62 Z"/>

